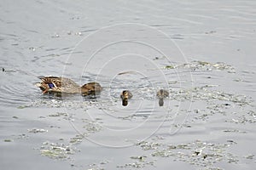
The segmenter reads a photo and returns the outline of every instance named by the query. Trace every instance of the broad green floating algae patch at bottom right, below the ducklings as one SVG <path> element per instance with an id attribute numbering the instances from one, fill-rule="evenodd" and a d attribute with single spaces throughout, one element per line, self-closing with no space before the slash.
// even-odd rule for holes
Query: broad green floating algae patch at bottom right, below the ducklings
<path id="1" fill-rule="evenodd" d="M 220 161 L 227 163 L 236 163 L 238 161 L 238 156 L 227 151 L 231 144 L 236 144 L 231 140 L 224 144 L 207 143 L 200 140 L 186 144 L 137 143 L 143 150 L 145 150 L 145 144 L 152 150 L 150 156 L 170 157 L 173 161 L 184 161 L 191 165 L 209 169 L 218 168 L 214 165 Z M 151 145 L 157 145 L 157 147 L 150 147 Z M 146 148 L 148 150 L 148 147 Z"/>

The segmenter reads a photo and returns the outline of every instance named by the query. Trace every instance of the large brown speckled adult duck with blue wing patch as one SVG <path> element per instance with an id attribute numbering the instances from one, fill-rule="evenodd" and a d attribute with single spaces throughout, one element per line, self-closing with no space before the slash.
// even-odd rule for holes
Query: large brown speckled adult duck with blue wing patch
<path id="1" fill-rule="evenodd" d="M 42 82 L 36 86 L 43 91 L 43 94 L 96 94 L 102 91 L 98 82 L 89 82 L 80 87 L 73 80 L 65 77 L 39 77 Z"/>

